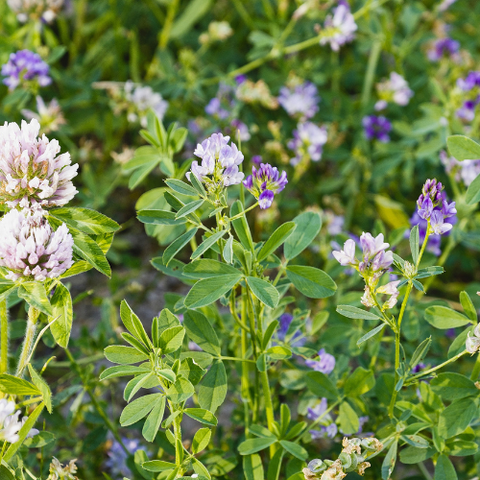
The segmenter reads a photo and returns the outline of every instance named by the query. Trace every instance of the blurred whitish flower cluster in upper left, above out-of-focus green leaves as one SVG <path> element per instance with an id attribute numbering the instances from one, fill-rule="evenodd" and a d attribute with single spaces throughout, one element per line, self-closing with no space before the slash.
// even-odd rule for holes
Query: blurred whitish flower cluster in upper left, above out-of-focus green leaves
<path id="1" fill-rule="evenodd" d="M 152 109 L 160 120 L 165 116 L 168 102 L 148 85 L 142 86 L 128 80 L 125 82 L 124 93 L 125 99 L 130 104 L 127 107 L 127 119 L 129 122 L 134 123 L 140 119 L 140 125 L 146 128 L 149 109 Z"/>

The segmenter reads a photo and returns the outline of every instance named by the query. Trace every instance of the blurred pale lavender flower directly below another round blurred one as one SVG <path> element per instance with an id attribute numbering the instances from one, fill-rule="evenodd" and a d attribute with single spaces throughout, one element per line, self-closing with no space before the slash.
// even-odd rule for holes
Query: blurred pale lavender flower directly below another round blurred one
<path id="1" fill-rule="evenodd" d="M 318 162 L 322 158 L 323 145 L 327 142 L 327 129 L 314 123 L 305 122 L 297 125 L 293 131 L 293 139 L 288 142 L 288 148 L 293 150 L 295 157 L 290 163 L 295 166 L 303 159 Z"/>

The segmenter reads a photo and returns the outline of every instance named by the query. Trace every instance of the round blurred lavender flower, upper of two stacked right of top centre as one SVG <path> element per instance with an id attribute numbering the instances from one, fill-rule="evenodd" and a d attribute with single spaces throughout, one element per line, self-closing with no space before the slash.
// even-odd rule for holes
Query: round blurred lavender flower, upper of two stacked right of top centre
<path id="1" fill-rule="evenodd" d="M 278 96 L 278 103 L 294 118 L 306 120 L 318 112 L 317 87 L 311 82 L 304 82 L 300 85 L 282 87 Z"/>

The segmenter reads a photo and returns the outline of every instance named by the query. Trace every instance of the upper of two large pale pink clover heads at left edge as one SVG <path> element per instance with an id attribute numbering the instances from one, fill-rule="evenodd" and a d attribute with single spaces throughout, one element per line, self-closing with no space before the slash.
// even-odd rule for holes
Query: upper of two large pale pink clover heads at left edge
<path id="1" fill-rule="evenodd" d="M 22 121 L 0 127 L 0 202 L 10 208 L 67 204 L 77 193 L 72 178 L 78 164 L 60 152 L 57 140 L 38 138 L 40 124 Z"/>

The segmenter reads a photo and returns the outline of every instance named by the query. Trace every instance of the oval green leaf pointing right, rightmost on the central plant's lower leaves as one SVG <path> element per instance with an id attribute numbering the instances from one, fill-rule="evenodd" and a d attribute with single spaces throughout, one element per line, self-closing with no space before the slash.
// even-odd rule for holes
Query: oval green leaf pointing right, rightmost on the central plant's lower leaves
<path id="1" fill-rule="evenodd" d="M 331 297 L 337 290 L 330 276 L 318 268 L 291 265 L 287 267 L 287 277 L 308 298 Z"/>

